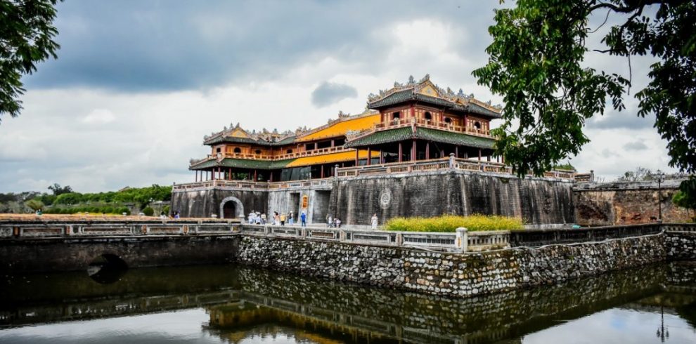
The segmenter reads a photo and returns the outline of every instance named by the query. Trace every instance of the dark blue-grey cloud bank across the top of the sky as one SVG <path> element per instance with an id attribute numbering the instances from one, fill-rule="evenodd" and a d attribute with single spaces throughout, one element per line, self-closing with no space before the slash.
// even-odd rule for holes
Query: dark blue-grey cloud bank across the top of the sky
<path id="1" fill-rule="evenodd" d="M 378 62 L 391 48 L 385 35 L 374 32 L 393 22 L 437 18 L 466 31 L 458 26 L 465 24 L 457 1 L 427 7 L 410 2 L 65 1 L 58 4 L 56 20 L 58 60 L 39 66 L 25 83 L 27 88 L 200 89 L 277 79 L 288 68 L 326 55 L 371 70 L 381 67 Z M 473 18 L 485 27 L 492 14 Z M 482 60 L 485 41 L 472 39 L 457 51 Z"/>

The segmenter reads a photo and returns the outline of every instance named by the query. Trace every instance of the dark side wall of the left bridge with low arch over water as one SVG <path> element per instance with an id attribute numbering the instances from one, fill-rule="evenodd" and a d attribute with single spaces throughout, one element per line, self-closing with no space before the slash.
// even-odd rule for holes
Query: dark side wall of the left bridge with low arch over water
<path id="1" fill-rule="evenodd" d="M 234 260 L 238 243 L 238 234 L 3 239 L 0 272 L 84 270 L 103 254 L 117 256 L 128 267 L 226 263 Z"/>

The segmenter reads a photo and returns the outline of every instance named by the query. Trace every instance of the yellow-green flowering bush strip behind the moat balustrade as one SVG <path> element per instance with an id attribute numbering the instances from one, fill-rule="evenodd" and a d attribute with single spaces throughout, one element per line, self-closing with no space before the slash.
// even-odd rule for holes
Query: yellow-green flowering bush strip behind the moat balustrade
<path id="1" fill-rule="evenodd" d="M 434 218 L 392 218 L 385 225 L 386 230 L 404 232 L 455 232 L 459 227 L 465 227 L 472 232 L 524 229 L 522 218 L 497 215 L 443 215 Z"/>

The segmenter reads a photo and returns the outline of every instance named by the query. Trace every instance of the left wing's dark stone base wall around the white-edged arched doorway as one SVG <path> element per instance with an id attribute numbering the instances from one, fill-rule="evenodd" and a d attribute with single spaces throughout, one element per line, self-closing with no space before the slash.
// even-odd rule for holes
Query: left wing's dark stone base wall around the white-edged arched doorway
<path id="1" fill-rule="evenodd" d="M 211 214 L 221 217 L 220 203 L 226 197 L 236 197 L 250 211 L 268 212 L 269 194 L 251 190 L 196 190 L 172 192 L 172 212 L 179 211 L 183 218 L 210 218 Z"/>

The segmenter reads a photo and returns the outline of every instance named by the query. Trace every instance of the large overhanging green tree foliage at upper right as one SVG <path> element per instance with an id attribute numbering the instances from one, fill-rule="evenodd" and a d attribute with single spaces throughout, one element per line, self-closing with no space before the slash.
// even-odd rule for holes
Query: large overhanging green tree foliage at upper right
<path id="1" fill-rule="evenodd" d="M 647 6 L 657 11 L 646 14 Z M 473 72 L 504 100 L 496 150 L 517 173 L 537 175 L 588 143 L 586 119 L 610 101 L 624 110 L 626 76 L 583 67 L 592 14 L 623 16 L 599 53 L 652 55 L 650 84 L 636 93 L 639 116 L 655 113 L 670 166 L 696 172 L 696 4 L 693 1 L 518 0 L 496 10 L 489 62 Z M 553 143 L 549 145 L 548 143 Z"/>

